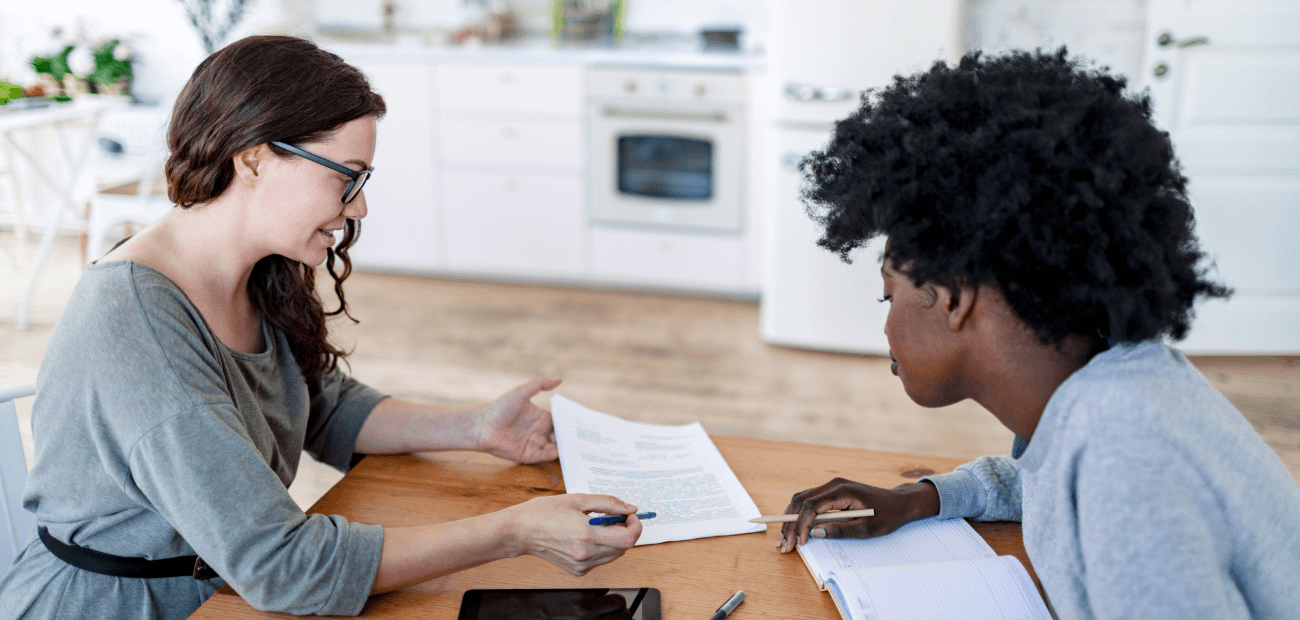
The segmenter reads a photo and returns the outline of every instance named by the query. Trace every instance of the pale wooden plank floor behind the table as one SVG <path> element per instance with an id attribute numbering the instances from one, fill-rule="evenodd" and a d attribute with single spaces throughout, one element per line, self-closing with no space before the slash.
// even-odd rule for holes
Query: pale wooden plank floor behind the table
<path id="1" fill-rule="evenodd" d="M 0 231 L 0 386 L 35 380 L 79 273 L 75 242 L 61 240 L 32 326 L 17 331 L 17 299 L 34 256 L 35 240 Z M 558 393 L 595 409 L 646 422 L 698 420 L 723 435 L 961 458 L 1005 454 L 1011 442 L 971 402 L 942 409 L 911 403 L 888 359 L 763 343 L 751 302 L 369 273 L 348 279 L 347 296 L 360 324 L 335 321 L 333 329 L 354 350 L 352 373 L 398 396 L 484 400 L 551 374 L 564 378 Z M 1300 480 L 1300 360 L 1192 361 Z M 309 506 L 337 480 L 308 463 L 291 493 Z"/>

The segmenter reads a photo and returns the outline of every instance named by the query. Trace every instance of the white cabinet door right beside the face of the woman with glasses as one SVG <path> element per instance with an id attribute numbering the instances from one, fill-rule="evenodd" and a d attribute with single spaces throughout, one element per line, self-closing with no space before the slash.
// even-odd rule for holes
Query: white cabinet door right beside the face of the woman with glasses
<path id="1" fill-rule="evenodd" d="M 354 62 L 384 96 L 374 175 L 365 183 L 369 213 L 352 261 L 361 268 L 425 270 L 438 266 L 434 192 L 433 68 L 428 62 Z"/>

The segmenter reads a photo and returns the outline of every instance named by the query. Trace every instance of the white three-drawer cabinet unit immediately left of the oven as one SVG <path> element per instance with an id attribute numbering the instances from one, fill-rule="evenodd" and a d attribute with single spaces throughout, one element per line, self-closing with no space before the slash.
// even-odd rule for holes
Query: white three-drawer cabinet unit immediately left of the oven
<path id="1" fill-rule="evenodd" d="M 585 69 L 439 62 L 436 71 L 447 268 L 580 277 Z"/>

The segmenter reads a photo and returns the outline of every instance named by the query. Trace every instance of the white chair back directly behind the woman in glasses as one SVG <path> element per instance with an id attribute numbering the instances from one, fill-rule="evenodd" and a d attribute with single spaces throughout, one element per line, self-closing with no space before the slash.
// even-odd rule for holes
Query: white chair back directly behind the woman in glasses
<path id="1" fill-rule="evenodd" d="M 0 389 L 0 575 L 9 571 L 36 526 L 35 516 L 22 510 L 27 460 L 22 456 L 18 411 L 13 406 L 14 399 L 35 394 L 35 385 Z"/>

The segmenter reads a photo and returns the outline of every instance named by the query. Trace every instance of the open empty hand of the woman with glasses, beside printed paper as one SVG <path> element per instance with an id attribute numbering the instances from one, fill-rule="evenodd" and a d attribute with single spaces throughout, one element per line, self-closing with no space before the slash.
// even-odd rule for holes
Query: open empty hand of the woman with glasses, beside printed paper
<path id="1" fill-rule="evenodd" d="M 551 412 L 530 400 L 559 385 L 555 377 L 538 377 L 478 409 L 473 421 L 478 451 L 515 463 L 545 463 L 559 458 Z"/>

